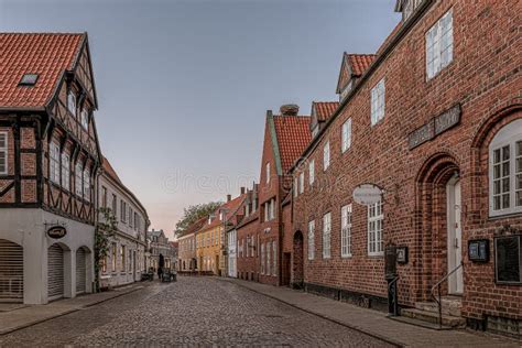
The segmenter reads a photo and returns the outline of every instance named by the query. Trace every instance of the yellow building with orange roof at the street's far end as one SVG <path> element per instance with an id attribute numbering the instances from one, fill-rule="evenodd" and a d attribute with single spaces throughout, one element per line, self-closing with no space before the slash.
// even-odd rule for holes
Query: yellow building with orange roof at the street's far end
<path id="1" fill-rule="evenodd" d="M 244 195 L 235 199 L 227 197 L 227 203 L 208 217 L 206 224 L 196 233 L 196 258 L 199 272 L 213 272 L 216 275 L 225 272 L 225 224 L 238 214 Z"/>

